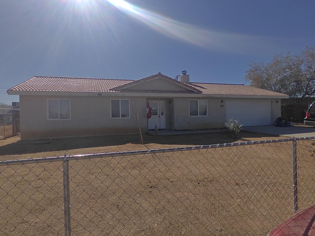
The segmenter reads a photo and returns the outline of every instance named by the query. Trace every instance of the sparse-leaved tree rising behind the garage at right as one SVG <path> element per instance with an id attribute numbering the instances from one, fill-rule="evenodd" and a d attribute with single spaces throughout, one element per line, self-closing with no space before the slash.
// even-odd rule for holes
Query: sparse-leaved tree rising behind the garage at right
<path id="1" fill-rule="evenodd" d="M 315 47 L 306 47 L 300 54 L 275 54 L 268 64 L 251 62 L 245 80 L 251 86 L 290 97 L 315 96 Z"/>

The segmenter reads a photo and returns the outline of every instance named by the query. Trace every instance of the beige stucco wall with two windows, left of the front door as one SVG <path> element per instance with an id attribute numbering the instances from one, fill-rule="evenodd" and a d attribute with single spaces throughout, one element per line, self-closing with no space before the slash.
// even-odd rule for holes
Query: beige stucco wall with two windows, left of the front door
<path id="1" fill-rule="evenodd" d="M 48 120 L 47 99 L 70 99 L 70 120 Z M 21 138 L 78 136 L 146 131 L 146 98 L 129 99 L 130 118 L 111 118 L 110 97 L 105 96 L 20 96 Z M 136 105 L 137 104 L 137 105 Z"/>

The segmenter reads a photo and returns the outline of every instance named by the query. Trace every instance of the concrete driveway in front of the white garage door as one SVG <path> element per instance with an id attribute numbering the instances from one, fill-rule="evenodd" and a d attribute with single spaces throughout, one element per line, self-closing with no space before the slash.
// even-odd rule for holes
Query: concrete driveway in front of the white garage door
<path id="1" fill-rule="evenodd" d="M 292 127 L 276 127 L 276 126 L 243 126 L 243 130 L 266 133 L 287 137 L 304 138 L 315 137 L 315 128 L 312 126 L 292 126 Z"/>

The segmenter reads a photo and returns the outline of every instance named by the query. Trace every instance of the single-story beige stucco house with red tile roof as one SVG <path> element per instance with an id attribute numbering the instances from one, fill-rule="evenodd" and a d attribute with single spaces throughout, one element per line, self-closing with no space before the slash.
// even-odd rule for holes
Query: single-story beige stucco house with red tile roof
<path id="1" fill-rule="evenodd" d="M 34 76 L 8 90 L 20 95 L 21 138 L 272 125 L 289 96 L 239 84 Z M 150 109 L 149 109 L 150 108 Z M 149 110 L 149 111 L 148 111 Z M 151 111 L 151 118 L 147 114 Z M 148 116 L 149 117 L 149 116 Z"/>

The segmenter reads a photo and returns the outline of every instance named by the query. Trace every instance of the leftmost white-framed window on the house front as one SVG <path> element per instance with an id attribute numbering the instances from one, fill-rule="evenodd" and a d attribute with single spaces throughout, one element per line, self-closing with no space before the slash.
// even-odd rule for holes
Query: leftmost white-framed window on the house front
<path id="1" fill-rule="evenodd" d="M 70 99 L 48 99 L 49 120 L 70 120 Z"/>

